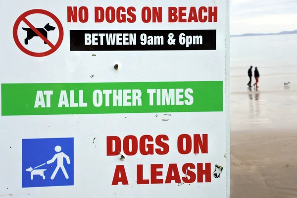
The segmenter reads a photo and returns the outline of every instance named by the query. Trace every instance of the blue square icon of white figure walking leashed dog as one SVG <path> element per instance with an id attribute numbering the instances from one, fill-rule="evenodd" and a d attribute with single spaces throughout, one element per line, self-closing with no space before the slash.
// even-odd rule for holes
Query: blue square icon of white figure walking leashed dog
<path id="1" fill-rule="evenodd" d="M 22 140 L 22 188 L 74 185 L 74 139 Z"/>

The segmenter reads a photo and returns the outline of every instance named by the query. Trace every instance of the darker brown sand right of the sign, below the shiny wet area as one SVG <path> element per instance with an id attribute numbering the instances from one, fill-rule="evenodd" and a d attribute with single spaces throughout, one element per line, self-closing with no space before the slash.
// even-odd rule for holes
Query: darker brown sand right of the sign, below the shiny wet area
<path id="1" fill-rule="evenodd" d="M 297 198 L 296 131 L 232 134 L 231 198 Z"/>

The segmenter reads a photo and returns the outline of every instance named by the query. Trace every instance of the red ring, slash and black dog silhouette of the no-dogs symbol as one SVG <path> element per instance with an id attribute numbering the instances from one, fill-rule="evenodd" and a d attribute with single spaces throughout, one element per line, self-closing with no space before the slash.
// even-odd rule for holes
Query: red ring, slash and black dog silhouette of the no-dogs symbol
<path id="1" fill-rule="evenodd" d="M 44 14 L 49 16 L 51 19 L 54 20 L 54 22 L 57 24 L 58 27 L 58 31 L 59 31 L 59 38 L 57 43 L 54 45 L 52 44 L 48 38 L 47 38 L 47 34 L 49 31 L 54 30 L 55 28 L 50 26 L 49 24 L 46 24 L 46 26 L 44 28 L 36 28 L 34 27 L 27 19 L 26 17 L 31 15 L 31 14 Z M 49 49 L 48 51 L 44 51 L 44 52 L 34 52 L 31 51 L 29 49 L 26 49 L 20 42 L 19 38 L 18 38 L 18 27 L 20 25 L 20 23 L 24 21 L 24 23 L 26 25 L 28 25 L 29 28 L 23 28 L 23 30 L 27 31 L 27 38 L 25 39 L 25 45 L 28 44 L 29 40 L 32 39 L 34 36 L 38 36 L 40 37 L 44 42 L 44 44 L 48 44 L 49 47 L 51 49 Z M 15 44 L 17 45 L 17 47 L 19 49 L 21 49 L 24 53 L 31 55 L 31 56 L 35 56 L 35 57 L 43 57 L 43 56 L 47 56 L 51 53 L 53 53 L 54 51 L 56 51 L 60 45 L 62 44 L 63 41 L 63 36 L 64 36 L 64 32 L 63 32 L 63 26 L 61 24 L 61 22 L 59 21 L 59 19 L 52 14 L 51 12 L 47 11 L 47 10 L 43 10 L 43 9 L 32 9 L 29 11 L 24 12 L 23 14 L 21 14 L 15 21 L 14 26 L 13 26 L 13 39 Z"/>

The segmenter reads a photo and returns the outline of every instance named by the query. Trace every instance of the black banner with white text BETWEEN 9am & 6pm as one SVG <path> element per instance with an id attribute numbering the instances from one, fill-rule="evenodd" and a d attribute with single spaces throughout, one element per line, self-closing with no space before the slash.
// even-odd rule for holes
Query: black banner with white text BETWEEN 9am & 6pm
<path id="1" fill-rule="evenodd" d="M 215 49 L 216 30 L 70 30 L 70 51 Z"/>

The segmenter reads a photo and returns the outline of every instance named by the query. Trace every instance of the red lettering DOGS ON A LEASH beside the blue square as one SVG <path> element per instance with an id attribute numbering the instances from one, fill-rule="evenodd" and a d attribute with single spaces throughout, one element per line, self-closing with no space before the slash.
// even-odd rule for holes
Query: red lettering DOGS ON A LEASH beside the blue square
<path id="1" fill-rule="evenodd" d="M 106 137 L 106 155 L 115 156 L 125 154 L 165 155 L 170 151 L 167 135 L 143 135 L 140 138 L 129 135 L 123 139 L 118 136 Z M 180 154 L 208 153 L 207 134 L 181 134 L 176 140 L 177 151 Z M 174 148 L 173 148 L 174 149 Z M 211 182 L 211 163 L 165 163 L 136 164 L 137 184 L 170 184 L 175 183 L 202 183 Z M 144 172 L 150 172 L 145 177 Z M 183 174 L 183 175 L 181 175 Z M 111 185 L 128 185 L 125 165 L 116 165 Z"/>

